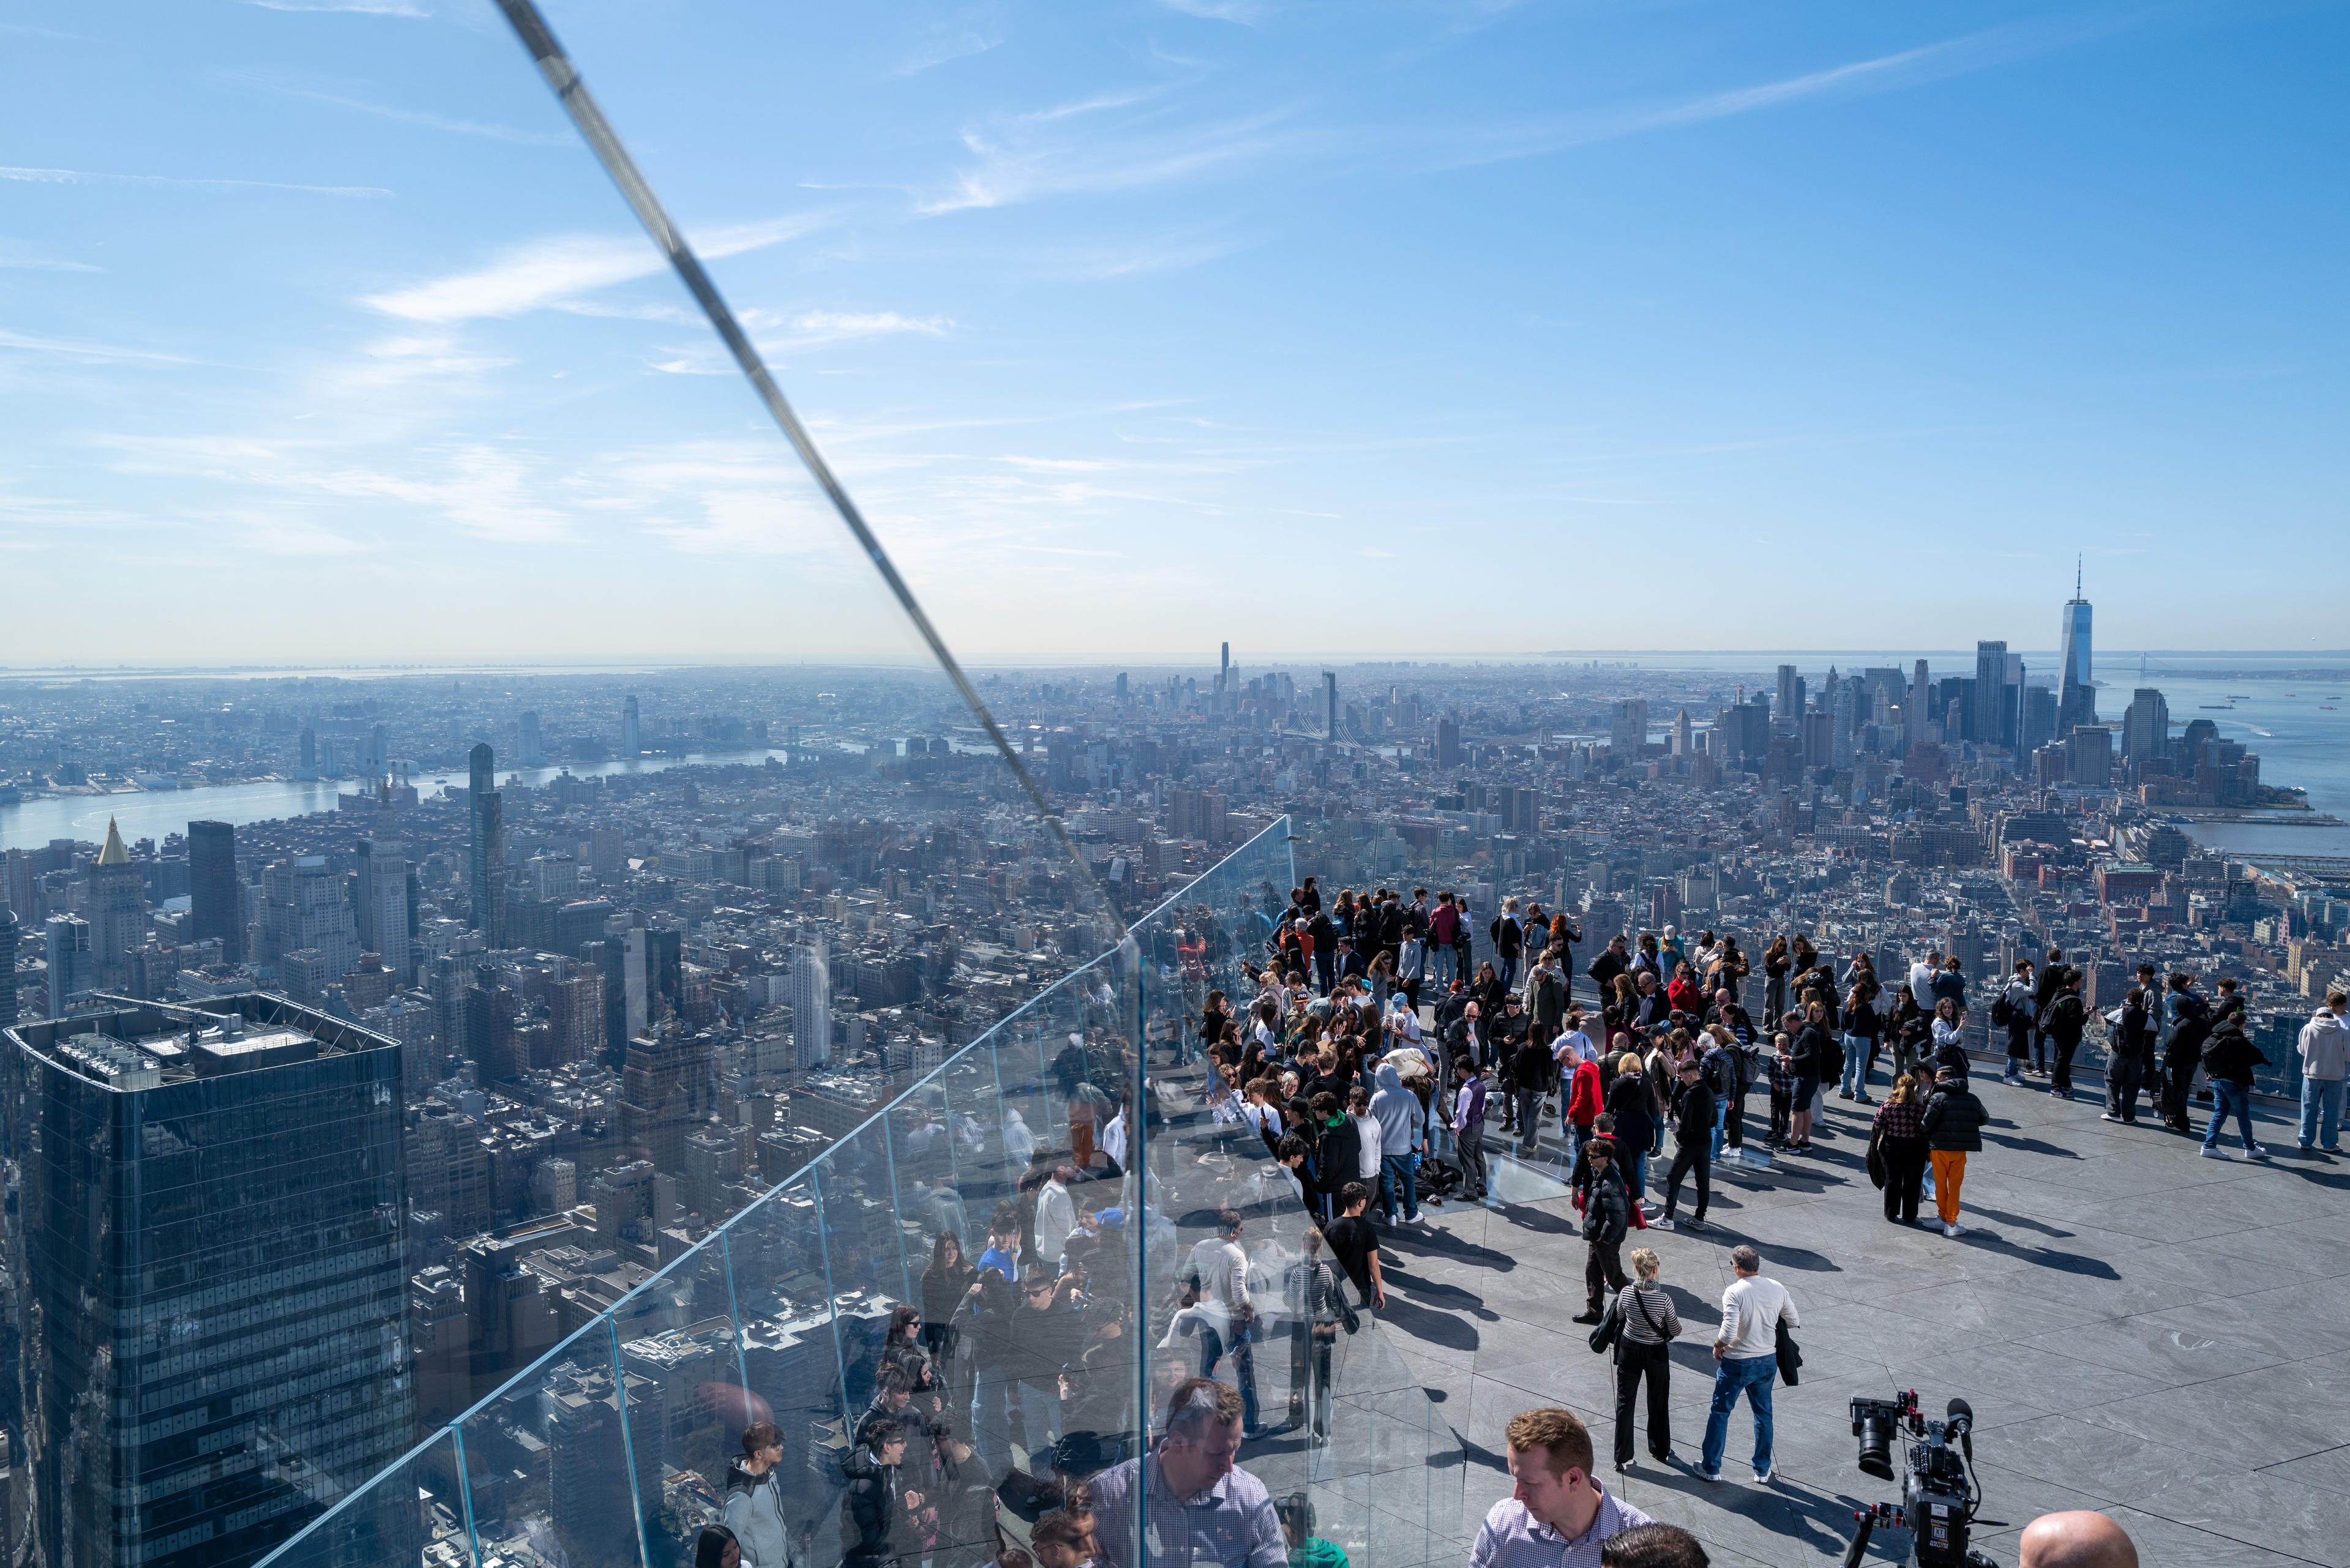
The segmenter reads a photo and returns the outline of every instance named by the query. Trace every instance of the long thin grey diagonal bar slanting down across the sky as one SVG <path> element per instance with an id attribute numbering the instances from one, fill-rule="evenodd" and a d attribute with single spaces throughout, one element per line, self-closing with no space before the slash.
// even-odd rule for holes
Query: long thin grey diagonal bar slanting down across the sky
<path id="1" fill-rule="evenodd" d="M 1036 788 L 1036 778 L 1027 771 L 1027 764 L 1020 762 L 1020 752 L 1013 750 L 1010 738 L 996 724 L 996 715 L 987 712 L 987 703 L 980 698 L 978 686 L 971 684 L 971 677 L 964 675 L 964 665 L 954 661 L 954 654 L 947 649 L 947 639 L 938 635 L 938 628 L 931 625 L 931 616 L 924 614 L 921 602 L 914 597 L 914 590 L 907 588 L 902 576 L 898 576 L 898 564 L 891 562 L 888 550 L 881 548 L 872 524 L 865 522 L 865 512 L 860 512 L 858 503 L 848 498 L 848 489 L 841 484 L 839 475 L 832 473 L 832 463 L 825 461 L 825 454 L 815 449 L 815 440 L 808 435 L 806 425 L 799 423 L 799 414 L 792 411 L 792 404 L 783 397 L 783 388 L 778 388 L 776 378 L 766 371 L 766 360 L 761 360 L 759 350 L 752 348 L 743 324 L 736 322 L 733 308 L 726 306 L 719 287 L 710 282 L 710 273 L 703 270 L 700 256 L 693 254 L 686 237 L 677 233 L 674 223 L 670 223 L 670 214 L 663 212 L 660 197 L 653 195 L 653 186 L 637 169 L 637 160 L 627 155 L 627 148 L 620 146 L 620 136 L 611 129 L 604 110 L 597 108 L 595 94 L 588 92 L 588 82 L 580 80 L 571 56 L 564 54 L 564 47 L 555 40 L 555 28 L 550 28 L 548 19 L 538 14 L 536 0 L 498 0 L 498 9 L 505 12 L 505 21 L 515 28 L 522 47 L 529 49 L 531 59 L 538 63 L 538 75 L 548 78 L 548 87 L 555 89 L 555 99 L 564 106 L 564 113 L 571 115 L 571 125 L 576 125 L 580 136 L 588 139 L 588 148 L 595 150 L 597 162 L 602 162 L 604 172 L 611 174 L 611 183 L 620 186 L 620 195 L 627 197 L 637 221 L 644 223 L 644 233 L 653 237 L 660 254 L 670 259 L 672 268 L 677 268 L 686 292 L 693 294 L 703 315 L 710 317 L 710 327 L 717 329 L 719 341 L 726 343 L 726 353 L 731 353 L 736 364 L 743 367 L 743 374 L 750 376 L 752 390 L 759 393 L 759 402 L 764 402 L 766 411 L 776 416 L 778 425 L 783 425 L 783 435 L 792 442 L 792 451 L 799 454 L 799 461 L 808 465 L 808 473 L 832 498 L 832 510 L 837 510 L 841 522 L 848 524 L 848 531 L 855 534 L 858 548 L 865 550 L 874 571 L 881 574 L 891 595 L 898 597 L 898 609 L 902 609 L 907 621 L 914 623 L 914 630 L 921 632 L 921 639 L 931 649 L 931 658 L 938 661 L 938 665 L 947 672 L 947 679 L 952 679 L 954 689 L 964 696 L 964 703 L 973 715 L 978 715 L 980 726 L 996 748 L 996 755 L 1010 764 L 1013 778 L 1020 780 L 1029 802 L 1036 804 L 1036 813 L 1043 818 L 1043 825 L 1050 827 L 1053 837 L 1060 839 L 1060 846 L 1069 851 L 1069 863 L 1076 865 L 1076 875 L 1083 877 L 1086 886 L 1090 886 L 1100 898 L 1102 910 L 1119 926 L 1119 936 L 1123 938 L 1126 919 L 1119 914 L 1119 907 L 1109 900 L 1102 884 L 1095 882 L 1093 867 L 1086 865 L 1083 851 L 1079 851 L 1067 825 L 1062 825 L 1060 811 L 1055 811 L 1053 802 L 1048 802 L 1043 790 Z"/>

